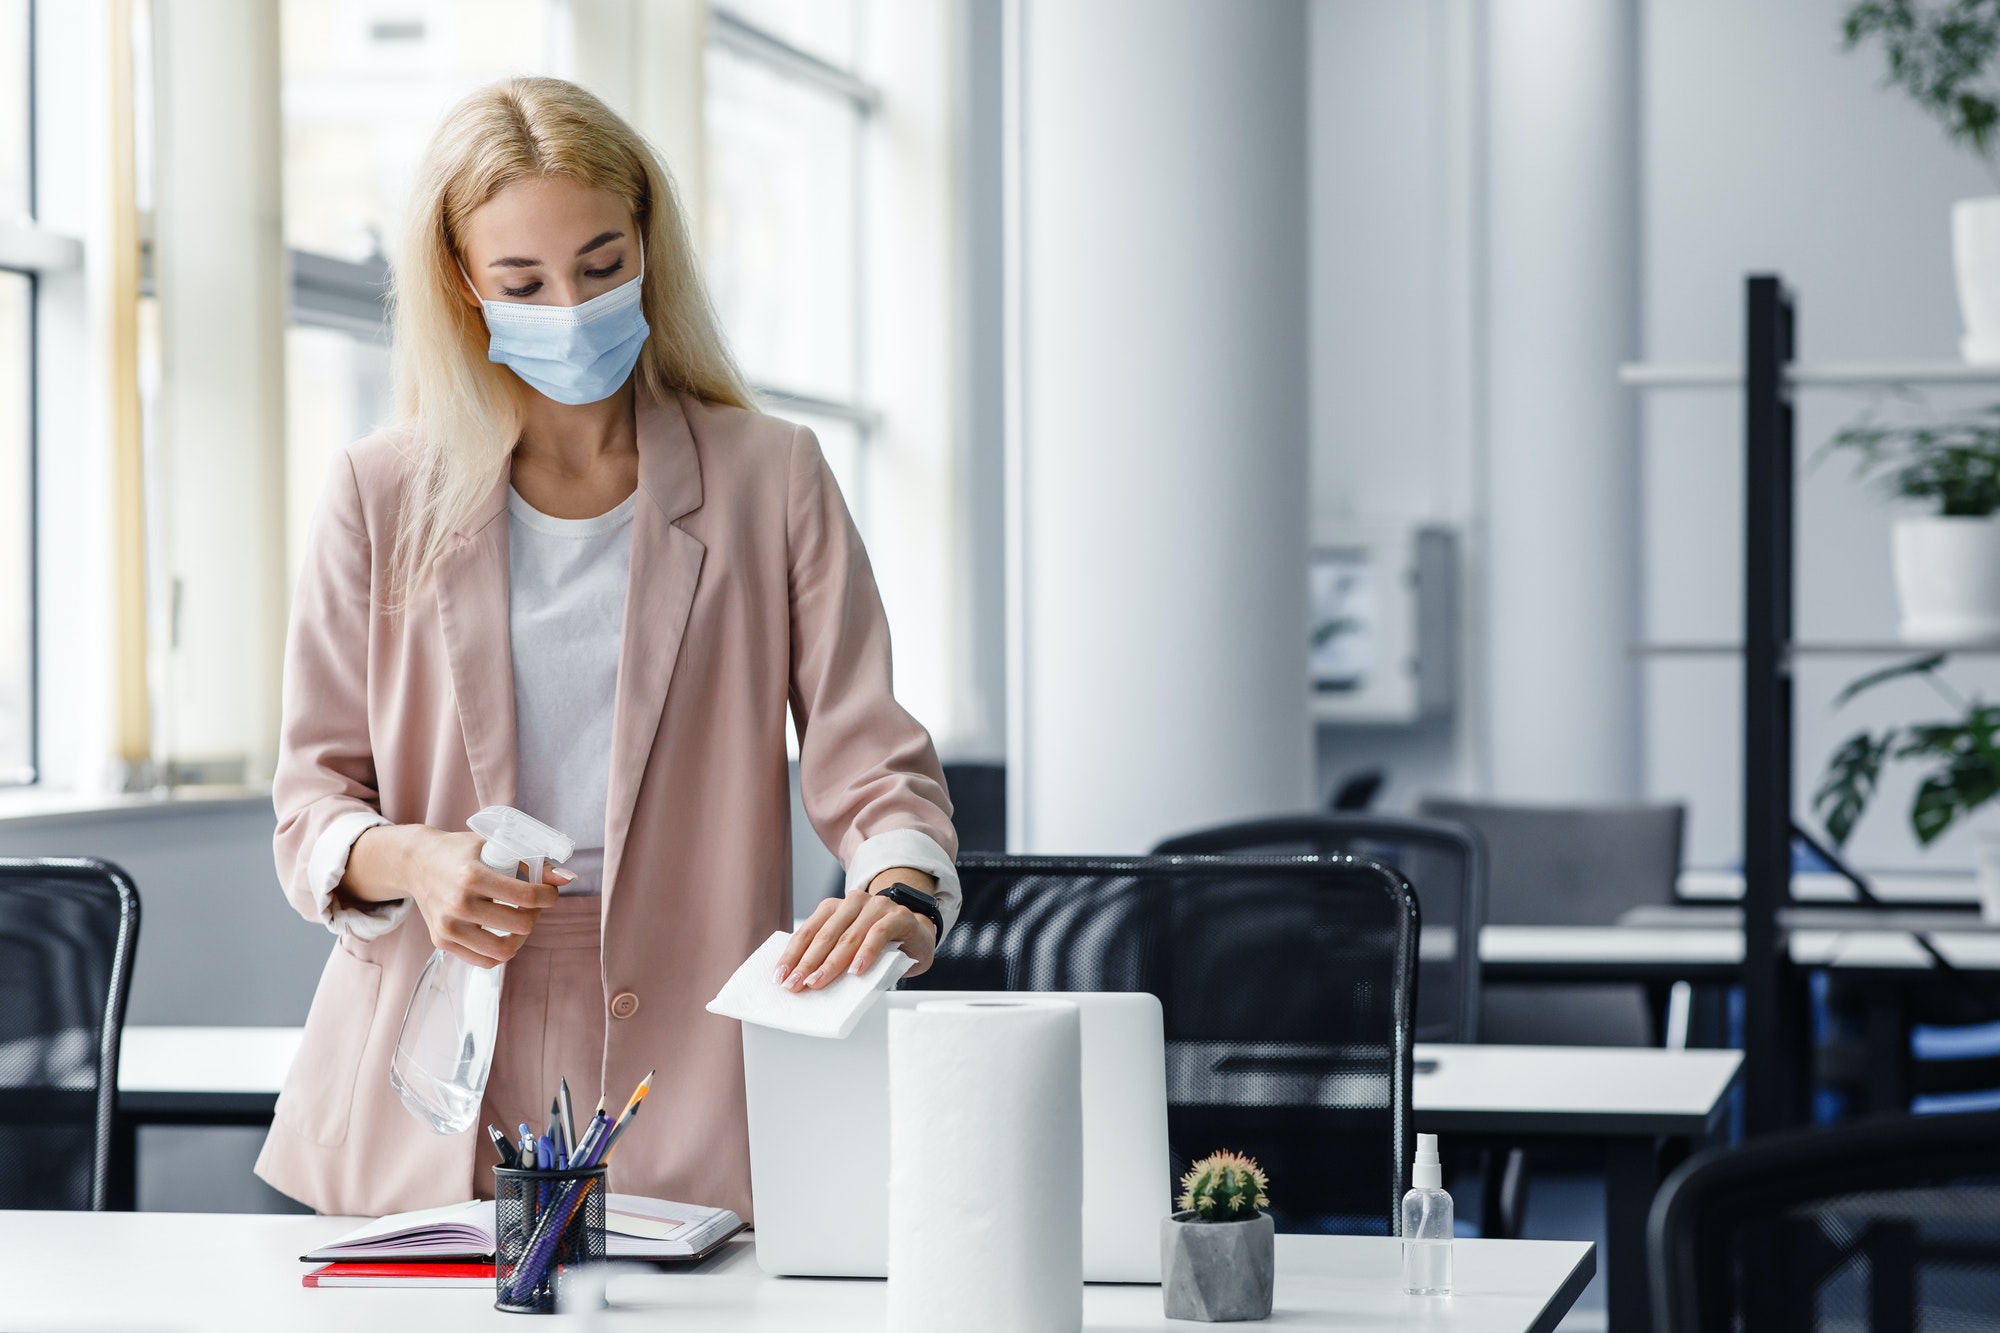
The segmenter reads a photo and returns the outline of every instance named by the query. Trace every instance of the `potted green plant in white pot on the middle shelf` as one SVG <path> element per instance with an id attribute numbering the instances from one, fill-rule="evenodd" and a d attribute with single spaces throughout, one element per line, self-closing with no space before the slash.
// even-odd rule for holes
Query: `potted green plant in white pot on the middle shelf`
<path id="1" fill-rule="evenodd" d="M 1934 510 L 1896 518 L 1892 532 L 1902 638 L 2000 638 L 2000 406 L 1916 426 L 1870 418 L 1826 448 L 1858 454 L 1864 476 Z"/>

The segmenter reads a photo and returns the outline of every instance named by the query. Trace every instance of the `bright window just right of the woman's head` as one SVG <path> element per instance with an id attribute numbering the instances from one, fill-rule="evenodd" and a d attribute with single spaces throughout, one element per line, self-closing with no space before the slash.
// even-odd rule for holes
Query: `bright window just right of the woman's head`
<path id="1" fill-rule="evenodd" d="M 772 406 L 818 434 L 868 530 L 860 0 L 718 6 L 706 56 L 706 262 L 730 346 Z"/>

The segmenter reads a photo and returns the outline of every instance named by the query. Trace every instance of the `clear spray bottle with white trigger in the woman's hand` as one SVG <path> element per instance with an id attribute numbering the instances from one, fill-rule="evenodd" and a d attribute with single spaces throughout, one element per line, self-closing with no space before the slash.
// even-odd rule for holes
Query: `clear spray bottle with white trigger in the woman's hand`
<path id="1" fill-rule="evenodd" d="M 486 839 L 484 865 L 528 883 L 542 879 L 546 863 L 562 865 L 576 851 L 562 833 L 506 805 L 488 805 L 466 823 Z M 520 865 L 526 871 L 518 871 Z M 388 1081 L 410 1115 L 440 1135 L 464 1133 L 480 1119 L 500 1031 L 504 971 L 504 963 L 472 967 L 438 949 L 410 993 Z"/>

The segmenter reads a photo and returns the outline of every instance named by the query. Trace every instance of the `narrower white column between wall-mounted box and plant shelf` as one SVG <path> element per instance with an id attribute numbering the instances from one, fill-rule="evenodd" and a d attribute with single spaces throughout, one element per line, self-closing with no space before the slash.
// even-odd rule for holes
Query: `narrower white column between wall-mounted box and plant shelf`
<path id="1" fill-rule="evenodd" d="M 1638 62 L 1630 0 L 1488 16 L 1492 795 L 1638 793 Z"/>

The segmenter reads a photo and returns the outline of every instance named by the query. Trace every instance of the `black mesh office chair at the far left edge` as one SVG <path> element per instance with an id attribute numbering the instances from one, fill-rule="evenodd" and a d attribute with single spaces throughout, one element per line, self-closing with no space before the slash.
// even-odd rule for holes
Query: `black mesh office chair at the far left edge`
<path id="1" fill-rule="evenodd" d="M 0 1207 L 106 1205 L 136 945 L 118 867 L 0 859 Z"/>

